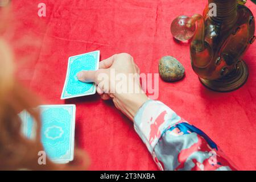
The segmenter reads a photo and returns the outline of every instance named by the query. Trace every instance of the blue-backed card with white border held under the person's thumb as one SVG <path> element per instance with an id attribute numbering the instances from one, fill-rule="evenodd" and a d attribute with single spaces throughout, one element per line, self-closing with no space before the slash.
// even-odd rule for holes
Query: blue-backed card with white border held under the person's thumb
<path id="1" fill-rule="evenodd" d="M 100 63 L 100 51 L 72 56 L 68 59 L 68 69 L 61 100 L 73 97 L 88 96 L 96 93 L 94 83 L 84 83 L 77 79 L 80 71 L 96 71 Z"/>

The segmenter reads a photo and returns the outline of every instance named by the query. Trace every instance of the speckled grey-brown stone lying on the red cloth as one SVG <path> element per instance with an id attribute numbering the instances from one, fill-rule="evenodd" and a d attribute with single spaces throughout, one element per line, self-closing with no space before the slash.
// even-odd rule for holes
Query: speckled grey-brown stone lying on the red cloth
<path id="1" fill-rule="evenodd" d="M 177 81 L 183 78 L 183 65 L 172 56 L 164 56 L 159 60 L 158 71 L 164 81 Z"/>

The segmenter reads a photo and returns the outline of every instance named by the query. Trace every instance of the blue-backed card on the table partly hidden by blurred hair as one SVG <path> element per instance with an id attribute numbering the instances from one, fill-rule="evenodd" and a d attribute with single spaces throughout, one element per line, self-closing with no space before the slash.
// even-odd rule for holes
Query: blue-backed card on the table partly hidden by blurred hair
<path id="1" fill-rule="evenodd" d="M 47 156 L 56 163 L 73 160 L 75 139 L 75 105 L 39 106 L 42 119 L 41 138 Z M 35 137 L 36 123 L 27 111 L 20 114 L 22 131 L 26 137 Z"/>

